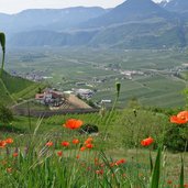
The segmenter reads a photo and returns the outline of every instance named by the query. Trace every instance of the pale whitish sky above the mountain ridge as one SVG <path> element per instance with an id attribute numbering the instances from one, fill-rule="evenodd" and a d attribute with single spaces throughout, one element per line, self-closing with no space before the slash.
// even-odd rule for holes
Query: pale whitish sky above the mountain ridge
<path id="1" fill-rule="evenodd" d="M 15 13 L 24 9 L 93 7 L 113 8 L 125 0 L 0 0 L 0 12 Z M 161 0 L 154 0 L 158 2 Z"/>

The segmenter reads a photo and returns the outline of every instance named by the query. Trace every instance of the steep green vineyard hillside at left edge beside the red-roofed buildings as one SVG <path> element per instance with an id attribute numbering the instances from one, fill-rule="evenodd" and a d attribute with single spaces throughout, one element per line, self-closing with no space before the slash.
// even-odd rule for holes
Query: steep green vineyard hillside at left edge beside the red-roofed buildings
<path id="1" fill-rule="evenodd" d="M 13 104 L 21 98 L 29 99 L 37 92 L 41 84 L 13 77 L 3 71 L 2 78 L 0 78 L 0 102 L 3 104 Z"/>

